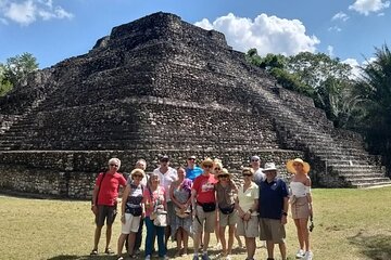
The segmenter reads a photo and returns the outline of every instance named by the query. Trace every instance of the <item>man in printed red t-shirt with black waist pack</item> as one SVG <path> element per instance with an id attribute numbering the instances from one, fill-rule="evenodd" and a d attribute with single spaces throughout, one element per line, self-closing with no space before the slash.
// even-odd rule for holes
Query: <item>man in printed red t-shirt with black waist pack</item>
<path id="1" fill-rule="evenodd" d="M 210 234 L 214 232 L 216 224 L 216 179 L 211 173 L 213 160 L 206 158 L 201 162 L 203 173 L 195 178 L 191 187 L 191 203 L 193 208 L 193 229 L 194 229 L 194 256 L 193 260 L 199 259 L 198 250 L 201 240 L 202 230 L 204 230 L 204 244 L 202 260 L 209 260 L 207 246 Z"/>

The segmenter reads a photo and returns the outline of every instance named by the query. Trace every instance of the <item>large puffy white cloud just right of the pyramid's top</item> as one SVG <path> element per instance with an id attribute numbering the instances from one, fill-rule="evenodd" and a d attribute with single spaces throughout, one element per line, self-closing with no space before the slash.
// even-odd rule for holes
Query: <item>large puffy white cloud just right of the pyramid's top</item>
<path id="1" fill-rule="evenodd" d="M 308 36 L 299 20 L 285 20 L 260 14 L 251 18 L 237 17 L 232 13 L 216 18 L 213 23 L 203 18 L 195 23 L 204 29 L 215 29 L 225 34 L 227 42 L 235 50 L 247 52 L 256 48 L 260 55 L 281 53 L 294 55 L 299 52 L 315 52 L 320 41 Z"/>

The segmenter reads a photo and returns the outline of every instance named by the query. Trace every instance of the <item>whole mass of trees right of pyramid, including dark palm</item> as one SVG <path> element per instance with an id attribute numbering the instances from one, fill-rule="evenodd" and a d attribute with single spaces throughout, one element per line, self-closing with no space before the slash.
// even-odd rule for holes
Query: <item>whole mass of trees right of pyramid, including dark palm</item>
<path id="1" fill-rule="evenodd" d="M 371 152 L 382 154 L 391 169 L 391 52 L 386 44 L 375 49 L 375 60 L 367 61 L 355 79 L 350 65 L 324 53 L 261 57 L 251 49 L 247 60 L 283 88 L 311 96 L 336 126 L 363 133 Z"/>

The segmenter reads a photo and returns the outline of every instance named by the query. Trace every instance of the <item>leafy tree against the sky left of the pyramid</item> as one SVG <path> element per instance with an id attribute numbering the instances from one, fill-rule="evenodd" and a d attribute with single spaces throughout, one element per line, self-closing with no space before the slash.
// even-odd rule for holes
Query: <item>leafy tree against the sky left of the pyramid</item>
<path id="1" fill-rule="evenodd" d="M 25 52 L 22 55 L 7 58 L 4 68 L 5 79 L 15 87 L 25 80 L 29 73 L 38 69 L 38 63 L 33 54 Z"/>

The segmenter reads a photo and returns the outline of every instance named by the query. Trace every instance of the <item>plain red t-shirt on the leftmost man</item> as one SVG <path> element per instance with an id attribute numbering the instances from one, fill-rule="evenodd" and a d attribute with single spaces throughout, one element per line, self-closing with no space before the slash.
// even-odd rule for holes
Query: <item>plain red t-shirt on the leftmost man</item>
<path id="1" fill-rule="evenodd" d="M 102 180 L 103 173 L 99 173 L 96 185 L 99 186 L 98 205 L 114 206 L 116 198 L 118 197 L 118 186 L 125 186 L 126 180 L 123 174 L 115 172 L 111 174 L 106 172 Z M 102 180 L 102 182 L 101 182 Z"/>

